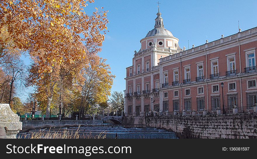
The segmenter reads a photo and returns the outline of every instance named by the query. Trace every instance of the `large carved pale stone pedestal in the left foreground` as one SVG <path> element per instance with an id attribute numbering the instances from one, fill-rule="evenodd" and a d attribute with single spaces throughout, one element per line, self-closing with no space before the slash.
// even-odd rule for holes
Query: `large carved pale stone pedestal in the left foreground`
<path id="1" fill-rule="evenodd" d="M 8 139 L 16 139 L 17 133 L 22 130 L 20 116 L 14 114 L 9 104 L 0 104 L 0 127 L 5 128 Z"/>

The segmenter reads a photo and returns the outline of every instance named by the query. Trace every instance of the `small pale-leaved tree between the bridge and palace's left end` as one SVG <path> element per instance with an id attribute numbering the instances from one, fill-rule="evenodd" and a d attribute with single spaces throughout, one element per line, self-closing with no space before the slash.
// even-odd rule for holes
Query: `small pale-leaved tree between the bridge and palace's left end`
<path id="1" fill-rule="evenodd" d="M 124 94 L 122 92 L 114 91 L 110 99 L 112 111 L 121 112 L 124 110 Z"/>

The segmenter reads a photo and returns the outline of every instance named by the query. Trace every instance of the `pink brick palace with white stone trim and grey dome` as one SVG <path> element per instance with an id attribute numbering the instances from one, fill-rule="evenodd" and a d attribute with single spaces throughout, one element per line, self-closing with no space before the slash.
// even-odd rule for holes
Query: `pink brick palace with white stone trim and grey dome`
<path id="1" fill-rule="evenodd" d="M 126 68 L 125 115 L 253 112 L 257 27 L 185 50 L 161 15 Z"/>

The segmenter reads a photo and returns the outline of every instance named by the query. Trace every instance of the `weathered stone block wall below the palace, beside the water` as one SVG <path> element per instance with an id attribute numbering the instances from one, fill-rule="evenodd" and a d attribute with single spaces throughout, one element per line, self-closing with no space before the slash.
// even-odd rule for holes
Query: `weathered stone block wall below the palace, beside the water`
<path id="1" fill-rule="evenodd" d="M 146 126 L 173 131 L 179 138 L 257 138 L 257 115 L 156 116 Z"/>

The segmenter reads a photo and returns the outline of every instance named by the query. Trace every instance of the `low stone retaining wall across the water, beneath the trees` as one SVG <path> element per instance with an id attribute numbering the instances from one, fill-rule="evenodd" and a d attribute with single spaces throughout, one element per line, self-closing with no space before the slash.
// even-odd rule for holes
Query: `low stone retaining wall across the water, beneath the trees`
<path id="1" fill-rule="evenodd" d="M 37 128 L 71 127 L 71 126 L 103 126 L 102 120 L 26 120 L 22 121 L 22 131 Z"/>

